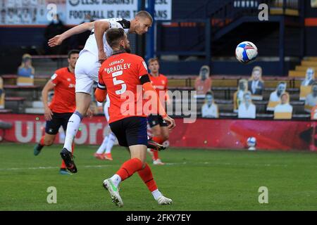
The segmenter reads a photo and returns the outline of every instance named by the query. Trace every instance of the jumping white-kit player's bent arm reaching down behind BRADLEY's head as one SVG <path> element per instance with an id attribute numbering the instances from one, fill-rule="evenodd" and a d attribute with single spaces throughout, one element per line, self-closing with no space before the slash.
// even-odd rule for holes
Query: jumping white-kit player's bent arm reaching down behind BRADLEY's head
<path id="1" fill-rule="evenodd" d="M 104 32 L 110 28 L 108 21 L 97 20 L 94 23 L 94 37 L 97 41 L 98 46 L 98 58 L 99 62 L 103 63 L 107 56 L 104 52 Z"/>

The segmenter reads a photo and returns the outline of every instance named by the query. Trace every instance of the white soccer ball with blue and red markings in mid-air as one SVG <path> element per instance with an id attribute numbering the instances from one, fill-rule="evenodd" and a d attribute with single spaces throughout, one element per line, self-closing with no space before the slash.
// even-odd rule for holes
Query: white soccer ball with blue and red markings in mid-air
<path id="1" fill-rule="evenodd" d="M 255 44 L 250 41 L 241 42 L 235 49 L 235 58 L 237 58 L 240 63 L 247 64 L 255 60 L 256 56 L 258 56 L 258 49 Z"/>

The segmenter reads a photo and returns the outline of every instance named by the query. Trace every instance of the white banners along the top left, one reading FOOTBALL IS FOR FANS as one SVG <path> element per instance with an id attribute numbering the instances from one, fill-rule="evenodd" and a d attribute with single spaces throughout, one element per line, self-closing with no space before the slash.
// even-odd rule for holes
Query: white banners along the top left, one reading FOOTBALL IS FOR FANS
<path id="1" fill-rule="evenodd" d="M 82 23 L 87 14 L 131 20 L 137 11 L 138 0 L 2 0 L 0 25 L 48 25 L 54 13 L 66 25 Z M 156 0 L 155 18 L 172 19 L 172 0 Z"/>

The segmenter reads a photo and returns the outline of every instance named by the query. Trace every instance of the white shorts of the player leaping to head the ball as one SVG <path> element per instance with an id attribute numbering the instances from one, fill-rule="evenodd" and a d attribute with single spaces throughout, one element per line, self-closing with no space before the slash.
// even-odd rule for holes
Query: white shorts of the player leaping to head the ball
<path id="1" fill-rule="evenodd" d="M 100 66 L 98 56 L 85 49 L 80 51 L 75 65 L 75 92 L 92 94 L 92 85 L 94 82 L 98 82 Z"/>

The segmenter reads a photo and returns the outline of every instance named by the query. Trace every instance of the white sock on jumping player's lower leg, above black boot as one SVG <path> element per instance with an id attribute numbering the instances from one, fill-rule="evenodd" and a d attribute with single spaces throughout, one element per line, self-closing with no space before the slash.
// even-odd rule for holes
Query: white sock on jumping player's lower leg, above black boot
<path id="1" fill-rule="evenodd" d="M 75 113 L 73 113 L 73 115 L 68 120 L 64 148 L 66 148 L 70 153 L 72 152 L 73 141 L 81 121 L 82 115 L 77 111 L 75 111 Z"/>

